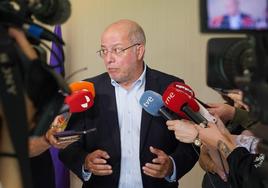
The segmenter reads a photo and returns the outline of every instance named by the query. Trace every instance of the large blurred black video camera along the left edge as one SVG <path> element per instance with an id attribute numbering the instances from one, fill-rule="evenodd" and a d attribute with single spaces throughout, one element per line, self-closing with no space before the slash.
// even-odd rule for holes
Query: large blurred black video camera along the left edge
<path id="1" fill-rule="evenodd" d="M 0 108 L 15 150 L 13 157 L 18 158 L 23 187 L 32 187 L 28 135 L 43 135 L 62 107 L 65 96 L 71 92 L 62 76 L 53 69 L 63 66 L 63 51 L 62 58 L 51 51 L 58 65 L 49 66 L 43 46 L 50 48 L 42 40 L 52 41 L 58 46 L 64 42 L 34 20 L 49 25 L 61 24 L 69 18 L 70 12 L 68 0 L 0 0 Z M 8 34 L 10 28 L 25 33 L 37 50 L 38 59 L 28 59 Z M 30 133 L 25 96 L 36 111 L 35 126 Z M 12 157 L 12 154 L 2 155 Z"/>

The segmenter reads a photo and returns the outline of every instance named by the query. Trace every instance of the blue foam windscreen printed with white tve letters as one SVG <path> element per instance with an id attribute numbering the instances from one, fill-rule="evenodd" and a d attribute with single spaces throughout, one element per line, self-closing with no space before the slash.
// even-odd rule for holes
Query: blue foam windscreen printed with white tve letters
<path id="1" fill-rule="evenodd" d="M 151 90 L 142 94 L 139 103 L 152 116 L 160 116 L 159 109 L 164 106 L 161 95 Z"/>

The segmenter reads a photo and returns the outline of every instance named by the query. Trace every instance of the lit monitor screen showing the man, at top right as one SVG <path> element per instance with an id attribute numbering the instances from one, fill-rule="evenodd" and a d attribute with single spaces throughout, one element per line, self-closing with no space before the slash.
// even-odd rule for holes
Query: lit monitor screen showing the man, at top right
<path id="1" fill-rule="evenodd" d="M 203 33 L 268 32 L 268 0 L 200 0 Z"/>

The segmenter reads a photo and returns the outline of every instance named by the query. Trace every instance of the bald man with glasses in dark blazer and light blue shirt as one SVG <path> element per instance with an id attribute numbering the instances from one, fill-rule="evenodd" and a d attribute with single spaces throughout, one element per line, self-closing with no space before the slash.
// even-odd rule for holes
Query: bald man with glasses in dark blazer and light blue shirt
<path id="1" fill-rule="evenodd" d="M 181 79 L 145 65 L 145 34 L 131 20 L 111 24 L 101 37 L 107 73 L 88 79 L 95 84 L 94 107 L 74 115 L 69 126 L 97 128 L 60 153 L 83 187 L 178 187 L 198 157 L 191 145 L 176 141 L 161 117 L 139 104 L 145 90 L 160 94 Z"/>

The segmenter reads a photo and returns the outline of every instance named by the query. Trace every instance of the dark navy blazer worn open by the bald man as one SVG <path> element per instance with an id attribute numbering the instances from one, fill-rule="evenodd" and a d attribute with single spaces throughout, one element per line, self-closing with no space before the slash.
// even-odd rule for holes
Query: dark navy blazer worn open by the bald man
<path id="1" fill-rule="evenodd" d="M 85 113 L 72 116 L 68 126 L 70 128 L 83 127 L 83 129 L 96 127 L 97 131 L 62 150 L 59 157 L 68 168 L 82 179 L 82 165 L 87 154 L 97 149 L 107 151 L 110 155 L 108 163 L 113 168 L 113 174 L 109 176 L 92 175 L 88 182 L 84 182 L 83 187 L 116 188 L 119 184 L 121 148 L 115 89 L 111 85 L 107 73 L 87 81 L 93 82 L 95 85 L 95 104 Z M 168 84 L 174 81 L 182 82 L 179 78 L 147 68 L 145 90 L 153 90 L 162 94 Z M 145 163 L 151 162 L 155 158 L 149 150 L 150 146 L 159 148 L 173 157 L 177 167 L 177 179 L 186 174 L 198 159 L 191 145 L 176 140 L 174 133 L 167 129 L 162 117 L 153 117 L 143 110 L 140 133 L 141 169 Z M 165 179 L 149 177 L 142 171 L 141 174 L 145 188 L 178 187 L 177 181 L 169 183 Z"/>

